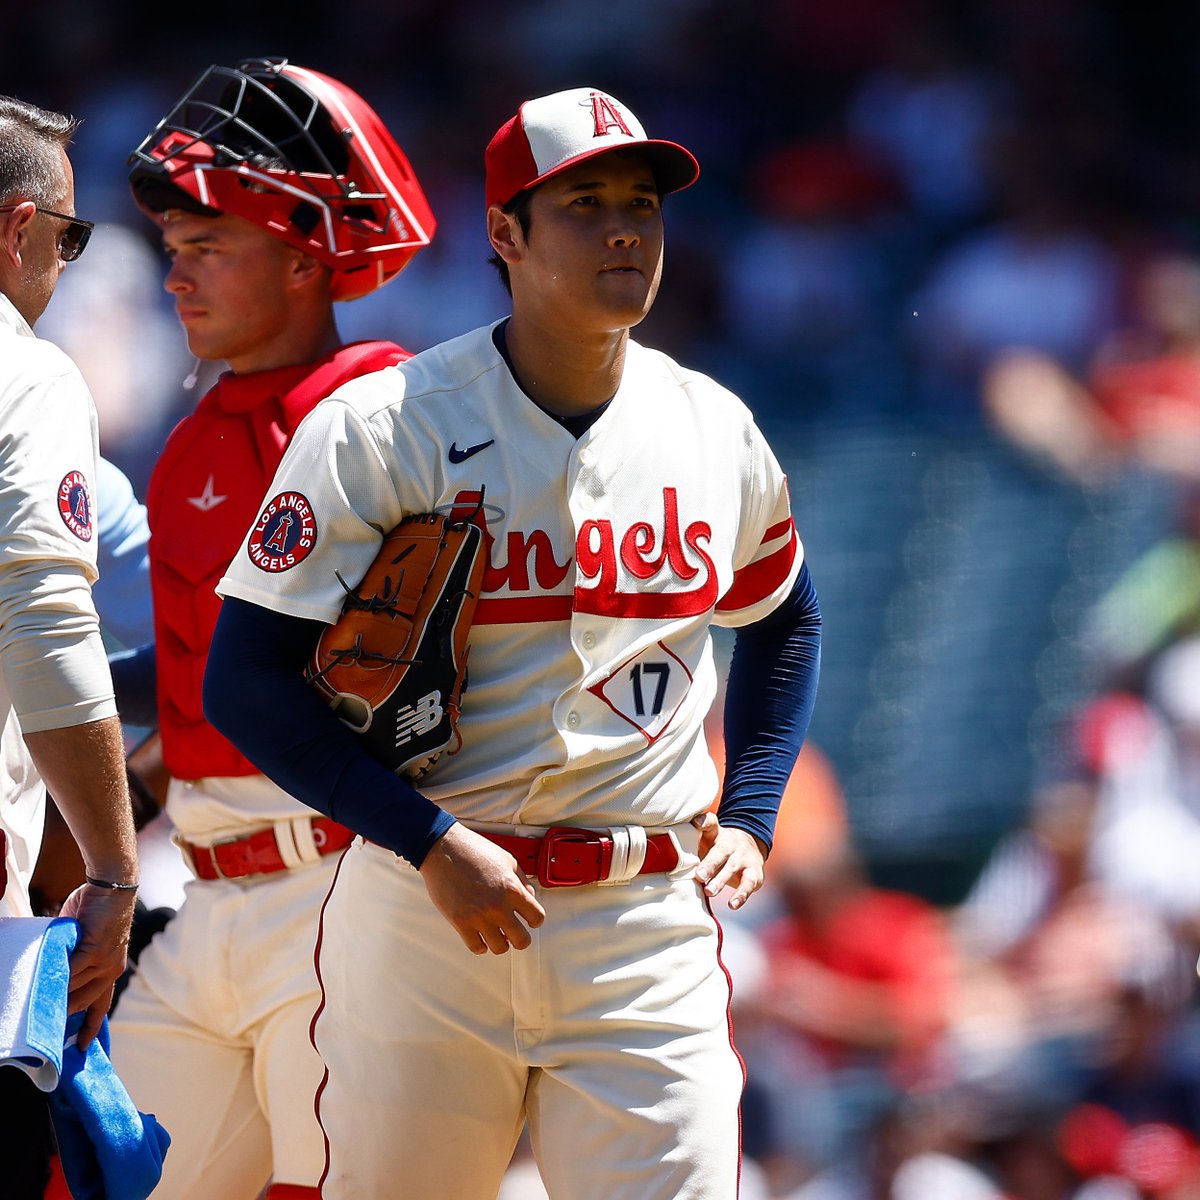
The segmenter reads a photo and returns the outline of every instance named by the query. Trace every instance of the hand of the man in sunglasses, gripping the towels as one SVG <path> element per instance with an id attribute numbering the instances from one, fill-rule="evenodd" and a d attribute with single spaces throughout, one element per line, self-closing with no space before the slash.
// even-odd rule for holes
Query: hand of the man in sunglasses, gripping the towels
<path id="1" fill-rule="evenodd" d="M 85 883 L 62 905 L 64 917 L 79 922 L 79 941 L 71 954 L 67 1012 L 86 1010 L 79 1030 L 79 1049 L 100 1032 L 113 1003 L 113 986 L 125 971 L 133 923 L 136 892 L 114 892 Z"/>

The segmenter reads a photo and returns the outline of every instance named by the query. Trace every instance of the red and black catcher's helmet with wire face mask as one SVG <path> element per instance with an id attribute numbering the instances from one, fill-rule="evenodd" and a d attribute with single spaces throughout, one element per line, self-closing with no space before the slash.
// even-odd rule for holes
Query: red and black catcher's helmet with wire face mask
<path id="1" fill-rule="evenodd" d="M 331 268 L 335 300 L 394 278 L 437 226 L 371 106 L 287 59 L 209 67 L 128 167 L 146 211 L 245 217 Z"/>

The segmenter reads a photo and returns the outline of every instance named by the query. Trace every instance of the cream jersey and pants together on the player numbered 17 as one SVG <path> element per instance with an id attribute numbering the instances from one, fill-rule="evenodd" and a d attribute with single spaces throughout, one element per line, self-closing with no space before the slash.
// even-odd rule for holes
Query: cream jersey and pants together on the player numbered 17
<path id="1" fill-rule="evenodd" d="M 475 330 L 320 404 L 271 505 L 310 548 L 262 565 L 252 532 L 218 590 L 320 622 L 401 517 L 481 505 L 463 744 L 421 791 L 484 832 L 617 830 L 611 886 L 538 886 L 545 924 L 504 955 L 468 953 L 404 859 L 346 852 L 319 944 L 323 1194 L 484 1195 L 528 1111 L 552 1195 L 734 1196 L 743 1074 L 690 824 L 718 785 L 709 626 L 768 614 L 803 557 L 748 409 L 630 342 L 576 439 Z M 638 874 L 664 836 L 674 869 Z"/>

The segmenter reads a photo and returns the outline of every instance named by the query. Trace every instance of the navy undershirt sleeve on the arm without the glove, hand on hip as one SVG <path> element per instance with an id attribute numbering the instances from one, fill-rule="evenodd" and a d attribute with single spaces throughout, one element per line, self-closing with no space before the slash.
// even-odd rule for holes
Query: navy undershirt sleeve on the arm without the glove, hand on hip
<path id="1" fill-rule="evenodd" d="M 820 673 L 821 607 L 805 563 L 787 599 L 737 631 L 726 682 L 725 786 L 716 815 L 768 848 Z"/>

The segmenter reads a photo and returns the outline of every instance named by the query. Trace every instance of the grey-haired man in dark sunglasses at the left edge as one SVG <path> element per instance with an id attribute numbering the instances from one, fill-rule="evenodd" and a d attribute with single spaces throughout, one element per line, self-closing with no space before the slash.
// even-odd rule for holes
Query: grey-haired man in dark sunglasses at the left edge
<path id="1" fill-rule="evenodd" d="M 0 917 L 30 917 L 49 787 L 86 882 L 70 1009 L 80 1045 L 125 968 L 138 862 L 121 728 L 91 596 L 96 581 L 96 408 L 74 364 L 32 330 L 91 223 L 73 215 L 66 148 L 76 122 L 0 96 Z M 5 1195 L 41 1195 L 44 1100 L 0 1069 Z"/>

